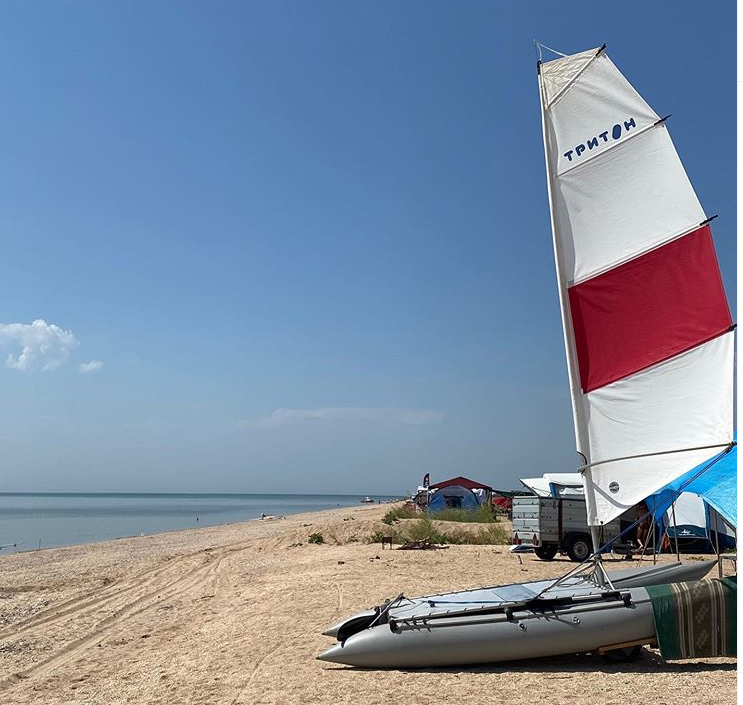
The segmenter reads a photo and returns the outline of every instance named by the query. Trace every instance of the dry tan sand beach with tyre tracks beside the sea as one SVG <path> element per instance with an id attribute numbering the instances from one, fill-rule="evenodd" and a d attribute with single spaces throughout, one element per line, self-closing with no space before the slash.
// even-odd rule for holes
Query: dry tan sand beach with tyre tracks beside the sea
<path id="1" fill-rule="evenodd" d="M 386 509 L 0 557 L 0 703 L 735 702 L 734 659 L 665 663 L 649 649 L 623 665 L 571 656 L 427 672 L 315 660 L 332 643 L 322 628 L 401 591 L 533 580 L 574 565 L 521 564 L 505 546 L 383 551 L 363 541 L 384 527 Z M 308 544 L 313 532 L 328 543 Z"/>

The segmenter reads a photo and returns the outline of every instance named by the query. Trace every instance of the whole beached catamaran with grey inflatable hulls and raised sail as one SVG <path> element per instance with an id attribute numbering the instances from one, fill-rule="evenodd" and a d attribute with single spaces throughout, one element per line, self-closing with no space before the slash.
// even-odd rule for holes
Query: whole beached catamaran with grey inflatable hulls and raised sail
<path id="1" fill-rule="evenodd" d="M 734 334 L 711 218 L 666 118 L 605 47 L 549 62 L 541 48 L 548 197 L 593 560 L 558 581 L 400 595 L 327 629 L 337 643 L 322 660 L 430 667 L 650 643 L 646 587 L 698 579 L 713 565 L 607 572 L 599 545 L 603 523 L 694 469 L 688 484 L 734 446 Z"/>

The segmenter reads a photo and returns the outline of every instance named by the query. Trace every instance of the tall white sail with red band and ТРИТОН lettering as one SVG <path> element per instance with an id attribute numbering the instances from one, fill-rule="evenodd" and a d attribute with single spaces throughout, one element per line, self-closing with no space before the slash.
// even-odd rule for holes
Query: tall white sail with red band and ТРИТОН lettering
<path id="1" fill-rule="evenodd" d="M 605 51 L 540 65 L 548 193 L 589 524 L 733 441 L 733 333 L 705 215 Z"/>

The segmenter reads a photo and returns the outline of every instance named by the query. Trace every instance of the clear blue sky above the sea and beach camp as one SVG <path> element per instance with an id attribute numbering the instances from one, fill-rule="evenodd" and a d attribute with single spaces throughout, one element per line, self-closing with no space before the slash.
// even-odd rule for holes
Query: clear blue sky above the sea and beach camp
<path id="1" fill-rule="evenodd" d="M 532 40 L 672 113 L 734 307 L 735 11 L 4 4 L 2 489 L 572 471 Z"/>

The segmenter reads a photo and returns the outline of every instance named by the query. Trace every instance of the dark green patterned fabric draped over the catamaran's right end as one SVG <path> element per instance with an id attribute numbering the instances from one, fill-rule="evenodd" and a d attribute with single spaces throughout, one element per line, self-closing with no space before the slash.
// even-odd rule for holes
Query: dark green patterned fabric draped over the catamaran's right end
<path id="1" fill-rule="evenodd" d="M 737 576 L 645 589 L 664 659 L 737 655 Z"/>

